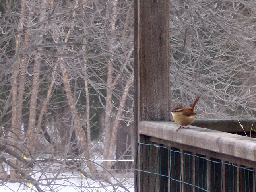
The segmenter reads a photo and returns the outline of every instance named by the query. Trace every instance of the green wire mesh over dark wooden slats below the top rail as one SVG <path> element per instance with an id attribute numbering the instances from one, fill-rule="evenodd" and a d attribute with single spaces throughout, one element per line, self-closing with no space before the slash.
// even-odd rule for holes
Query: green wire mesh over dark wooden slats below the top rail
<path id="1" fill-rule="evenodd" d="M 138 149 L 140 150 L 137 158 L 147 154 L 147 158 L 144 156 L 136 165 L 136 171 L 140 173 L 142 181 L 140 183 L 142 191 L 255 191 L 253 168 L 161 144 L 139 142 Z M 150 155 L 154 155 L 157 166 L 150 166 Z"/>

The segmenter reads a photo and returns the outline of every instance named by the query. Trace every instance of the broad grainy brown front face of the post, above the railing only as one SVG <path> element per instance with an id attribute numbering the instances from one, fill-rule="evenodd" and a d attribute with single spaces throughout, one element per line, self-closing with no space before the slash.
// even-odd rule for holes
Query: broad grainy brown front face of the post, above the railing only
<path id="1" fill-rule="evenodd" d="M 140 120 L 167 120 L 169 1 L 140 1 Z"/>

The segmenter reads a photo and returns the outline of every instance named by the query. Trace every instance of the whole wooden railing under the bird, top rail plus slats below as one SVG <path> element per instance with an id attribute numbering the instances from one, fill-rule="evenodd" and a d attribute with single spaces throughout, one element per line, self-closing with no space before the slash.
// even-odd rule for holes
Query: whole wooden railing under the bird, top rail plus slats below
<path id="1" fill-rule="evenodd" d="M 138 191 L 255 191 L 255 138 L 177 128 L 174 122 L 140 122 Z"/>

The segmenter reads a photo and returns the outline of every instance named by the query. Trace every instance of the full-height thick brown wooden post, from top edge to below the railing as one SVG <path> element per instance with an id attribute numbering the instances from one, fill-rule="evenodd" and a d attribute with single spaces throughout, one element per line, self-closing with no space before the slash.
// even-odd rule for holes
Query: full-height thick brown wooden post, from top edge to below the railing
<path id="1" fill-rule="evenodd" d="M 146 137 L 137 138 L 140 121 L 169 119 L 169 51 L 169 0 L 134 0 L 134 132 L 137 134 L 135 140 L 147 142 Z M 166 151 L 162 150 L 163 153 Z M 147 159 L 146 154 L 140 152 L 138 147 L 136 154 L 140 156 L 136 158 L 137 170 L 142 169 L 142 162 L 145 159 L 150 162 L 150 167 L 157 167 L 155 155 L 150 155 Z M 164 171 L 158 170 L 159 173 Z M 168 173 L 166 170 L 164 172 Z M 150 185 L 154 184 L 159 184 L 157 191 L 163 191 L 162 187 L 168 183 L 168 179 L 163 176 L 158 176 L 154 183 L 154 174 L 148 176 L 148 173 L 143 171 L 136 171 L 135 174 L 135 190 L 138 192 L 144 191 L 146 187 L 148 191 L 153 191 L 155 186 Z M 147 184 L 149 186 L 145 186 Z M 166 187 L 164 191 L 167 191 Z"/>

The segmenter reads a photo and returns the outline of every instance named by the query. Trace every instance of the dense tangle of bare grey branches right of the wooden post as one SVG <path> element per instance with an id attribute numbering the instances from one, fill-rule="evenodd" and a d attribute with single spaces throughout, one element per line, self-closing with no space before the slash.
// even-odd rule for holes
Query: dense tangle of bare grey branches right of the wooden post
<path id="1" fill-rule="evenodd" d="M 255 14 L 252 1 L 171 1 L 173 103 L 202 95 L 198 117 L 255 117 Z"/>

